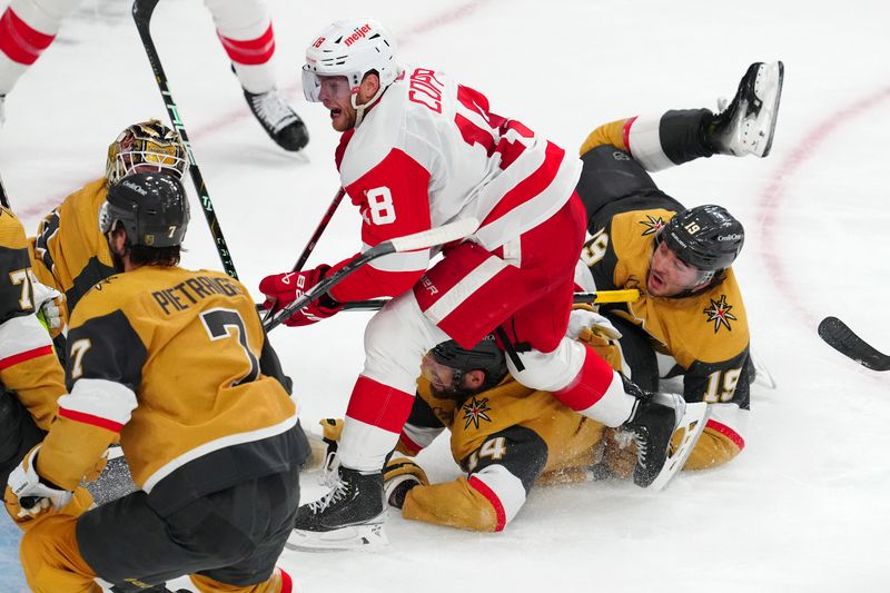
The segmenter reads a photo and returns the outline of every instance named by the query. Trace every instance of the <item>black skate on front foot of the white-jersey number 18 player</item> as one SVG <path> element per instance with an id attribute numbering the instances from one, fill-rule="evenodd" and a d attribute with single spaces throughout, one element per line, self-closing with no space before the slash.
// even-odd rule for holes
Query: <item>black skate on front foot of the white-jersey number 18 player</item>
<path id="1" fill-rule="evenodd" d="M 350 550 L 386 544 L 383 474 L 340 466 L 329 474 L 328 485 L 330 492 L 297 511 L 287 547 Z"/>

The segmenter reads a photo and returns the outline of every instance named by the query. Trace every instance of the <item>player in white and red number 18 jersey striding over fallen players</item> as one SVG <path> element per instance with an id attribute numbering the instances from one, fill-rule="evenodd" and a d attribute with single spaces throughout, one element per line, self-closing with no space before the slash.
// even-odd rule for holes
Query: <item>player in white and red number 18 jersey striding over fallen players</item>
<path id="1" fill-rule="evenodd" d="M 484 95 L 449 76 L 399 65 L 393 38 L 373 20 L 339 21 L 316 38 L 304 91 L 343 132 L 336 161 L 362 214 L 363 250 L 456 219 L 482 223 L 468 240 L 443 246 L 432 268 L 428 249 L 382 257 L 286 322 L 307 325 L 348 300 L 394 297 L 365 332 L 333 488 L 300 507 L 290 545 L 385 540 L 380 470 L 411 412 L 417 360 L 441 342 L 473 347 L 492 330 L 518 382 L 609 426 L 637 427 L 652 459 L 642 485 L 654 480 L 684 405 L 625 387 L 605 360 L 565 337 L 585 229 L 577 157 L 495 115 Z M 346 261 L 268 276 L 260 290 L 268 306 L 284 306 Z"/>

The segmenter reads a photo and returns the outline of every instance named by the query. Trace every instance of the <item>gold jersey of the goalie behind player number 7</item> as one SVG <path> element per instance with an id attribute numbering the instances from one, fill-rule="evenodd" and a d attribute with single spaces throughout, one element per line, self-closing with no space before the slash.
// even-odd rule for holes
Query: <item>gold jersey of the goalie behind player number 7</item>
<path id="1" fill-rule="evenodd" d="M 108 243 L 99 231 L 106 194 L 105 177 L 91 181 L 65 198 L 37 227 L 34 273 L 66 296 L 67 314 L 96 283 L 115 274 Z"/>

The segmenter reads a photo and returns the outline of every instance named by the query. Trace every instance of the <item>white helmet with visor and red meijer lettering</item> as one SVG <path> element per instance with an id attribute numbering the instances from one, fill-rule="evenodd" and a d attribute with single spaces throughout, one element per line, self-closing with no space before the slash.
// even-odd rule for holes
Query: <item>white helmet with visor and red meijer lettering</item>
<path id="1" fill-rule="evenodd" d="M 322 83 L 318 77 L 345 76 L 352 93 L 372 70 L 380 79 L 380 88 L 398 76 L 396 43 L 379 22 L 373 19 L 337 21 L 318 34 L 306 49 L 303 67 L 303 93 L 307 101 L 318 102 Z"/>

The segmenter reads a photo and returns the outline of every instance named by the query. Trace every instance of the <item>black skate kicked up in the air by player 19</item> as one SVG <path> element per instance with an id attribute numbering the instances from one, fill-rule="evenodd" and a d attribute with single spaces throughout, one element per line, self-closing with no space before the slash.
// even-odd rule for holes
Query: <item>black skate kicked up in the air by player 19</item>
<path id="1" fill-rule="evenodd" d="M 752 63 L 729 106 L 721 106 L 710 126 L 710 140 L 715 152 L 743 157 L 765 157 L 772 148 L 779 99 L 782 97 L 784 65 Z M 724 99 L 725 100 L 725 99 Z"/>

